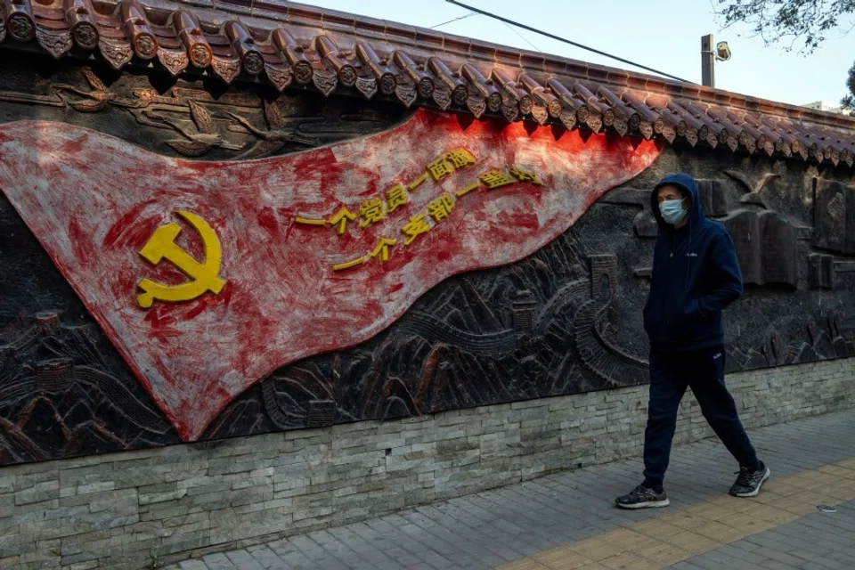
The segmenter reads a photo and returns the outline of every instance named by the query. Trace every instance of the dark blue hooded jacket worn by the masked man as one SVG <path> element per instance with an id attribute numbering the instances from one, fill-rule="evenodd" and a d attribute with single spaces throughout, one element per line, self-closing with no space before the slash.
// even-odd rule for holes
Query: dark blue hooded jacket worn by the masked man
<path id="1" fill-rule="evenodd" d="M 656 192 L 666 184 L 688 191 L 688 222 L 675 228 L 659 211 Z M 697 184 L 690 175 L 665 176 L 650 195 L 659 224 L 653 254 L 644 328 L 650 347 L 666 352 L 699 350 L 724 343 L 721 309 L 742 295 L 733 240 L 723 225 L 706 219 Z"/>

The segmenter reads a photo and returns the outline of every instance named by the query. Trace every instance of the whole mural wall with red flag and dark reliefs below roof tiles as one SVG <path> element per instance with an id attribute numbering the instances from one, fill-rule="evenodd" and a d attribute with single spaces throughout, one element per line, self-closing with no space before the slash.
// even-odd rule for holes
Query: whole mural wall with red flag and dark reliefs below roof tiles
<path id="1" fill-rule="evenodd" d="M 645 383 L 679 170 L 745 273 L 729 369 L 855 353 L 843 167 L 3 66 L 0 464 Z"/>

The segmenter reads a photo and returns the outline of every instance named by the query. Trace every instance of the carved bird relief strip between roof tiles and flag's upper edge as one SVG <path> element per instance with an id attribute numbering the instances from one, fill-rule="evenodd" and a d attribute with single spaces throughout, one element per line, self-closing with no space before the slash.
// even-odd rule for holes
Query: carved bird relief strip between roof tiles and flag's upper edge
<path id="1" fill-rule="evenodd" d="M 0 77 L 0 103 L 24 105 L 10 108 L 11 119 L 28 118 L 45 106 L 75 110 L 93 115 L 81 118 L 87 126 L 188 158 L 257 159 L 301 151 L 386 128 L 405 112 L 349 100 L 330 106 L 308 94 L 281 95 L 265 88 L 211 94 L 201 83 L 172 81 L 164 87 L 109 69 L 61 62 L 43 64 L 50 79 L 39 81 L 37 89 L 22 89 L 12 77 L 26 73 L 26 65 L 4 65 L 20 68 L 17 76 Z"/>

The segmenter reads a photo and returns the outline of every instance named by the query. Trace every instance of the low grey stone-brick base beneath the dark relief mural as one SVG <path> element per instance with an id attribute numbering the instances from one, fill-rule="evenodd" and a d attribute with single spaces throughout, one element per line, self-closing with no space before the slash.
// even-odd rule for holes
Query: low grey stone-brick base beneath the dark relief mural
<path id="1" fill-rule="evenodd" d="M 747 427 L 855 407 L 855 359 L 728 383 Z M 156 567 L 636 457 L 646 406 L 643 386 L 0 468 L 0 568 Z M 677 443 L 708 436 L 687 397 Z"/>

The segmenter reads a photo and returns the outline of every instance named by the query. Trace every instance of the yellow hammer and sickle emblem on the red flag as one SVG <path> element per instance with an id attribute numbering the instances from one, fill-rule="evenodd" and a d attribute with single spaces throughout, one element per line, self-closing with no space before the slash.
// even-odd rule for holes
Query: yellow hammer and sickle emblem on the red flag
<path id="1" fill-rule="evenodd" d="M 223 251 L 220 249 L 220 240 L 217 239 L 214 230 L 195 214 L 183 210 L 175 213 L 199 232 L 205 248 L 205 262 L 199 263 L 175 243 L 175 238 L 181 233 L 181 226 L 175 223 L 161 225 L 142 246 L 140 255 L 151 265 L 158 265 L 161 259 L 166 259 L 190 277 L 191 281 L 180 285 L 164 285 L 150 279 L 143 279 L 139 284 L 143 292 L 136 297 L 137 304 L 143 309 L 149 308 L 155 300 L 172 303 L 190 301 L 206 291 L 216 295 L 225 287 L 225 281 L 219 278 Z"/>

